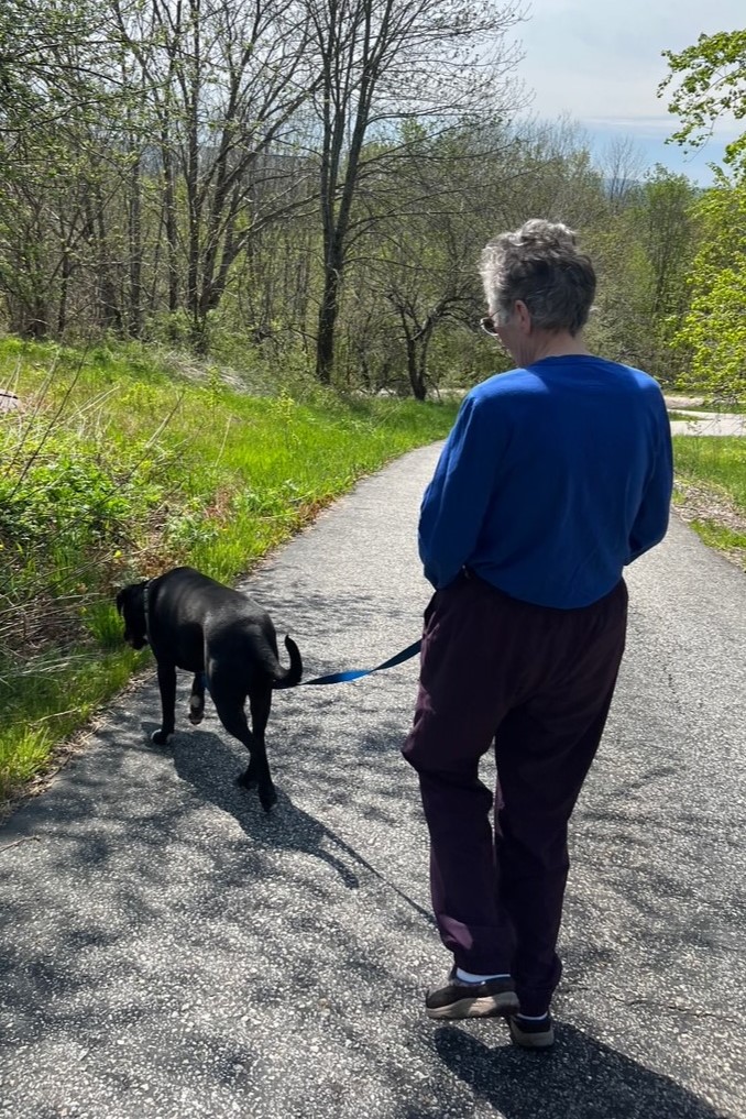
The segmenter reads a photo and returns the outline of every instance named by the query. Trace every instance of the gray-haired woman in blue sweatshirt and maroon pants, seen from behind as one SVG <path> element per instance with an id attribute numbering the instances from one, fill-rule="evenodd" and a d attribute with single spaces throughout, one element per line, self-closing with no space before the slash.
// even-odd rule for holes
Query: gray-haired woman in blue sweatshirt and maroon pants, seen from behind
<path id="1" fill-rule="evenodd" d="M 567 824 L 624 650 L 623 568 L 668 527 L 670 426 L 652 377 L 587 350 L 596 280 L 570 229 L 527 222 L 480 272 L 482 327 L 516 368 L 469 393 L 421 510 L 435 594 L 404 756 L 454 958 L 425 1003 L 504 1015 L 517 1044 L 548 1047 Z M 479 779 L 493 740 L 494 828 Z"/>

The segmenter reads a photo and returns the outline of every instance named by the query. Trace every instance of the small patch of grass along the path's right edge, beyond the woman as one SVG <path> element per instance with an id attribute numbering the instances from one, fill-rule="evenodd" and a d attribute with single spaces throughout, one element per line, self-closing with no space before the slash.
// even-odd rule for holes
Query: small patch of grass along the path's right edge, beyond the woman
<path id="1" fill-rule="evenodd" d="M 746 570 L 746 439 L 677 435 L 673 449 L 682 516 Z"/>

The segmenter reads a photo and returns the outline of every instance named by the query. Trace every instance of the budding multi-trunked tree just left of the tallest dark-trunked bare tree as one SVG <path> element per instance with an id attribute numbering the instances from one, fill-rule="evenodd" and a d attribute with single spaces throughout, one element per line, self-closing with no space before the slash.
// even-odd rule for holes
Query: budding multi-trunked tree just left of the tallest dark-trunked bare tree
<path id="1" fill-rule="evenodd" d="M 310 192 L 294 134 L 314 88 L 308 15 L 295 0 L 150 0 L 134 17 L 115 10 L 147 79 L 149 142 L 160 151 L 169 308 L 183 274 L 192 338 L 204 348 L 238 255 Z"/>

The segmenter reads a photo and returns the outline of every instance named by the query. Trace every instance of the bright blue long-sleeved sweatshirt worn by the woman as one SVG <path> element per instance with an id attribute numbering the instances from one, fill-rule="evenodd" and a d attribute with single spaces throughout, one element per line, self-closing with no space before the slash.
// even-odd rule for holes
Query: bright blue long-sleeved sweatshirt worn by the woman
<path id="1" fill-rule="evenodd" d="M 514 599 L 607 594 L 665 535 L 671 429 L 652 377 L 548 357 L 473 388 L 425 490 L 419 556 L 435 587 L 463 566 Z"/>

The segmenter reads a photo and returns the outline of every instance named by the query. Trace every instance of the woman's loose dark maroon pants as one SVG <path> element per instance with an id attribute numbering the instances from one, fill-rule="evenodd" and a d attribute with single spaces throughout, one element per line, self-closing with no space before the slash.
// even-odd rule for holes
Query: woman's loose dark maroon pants
<path id="1" fill-rule="evenodd" d="M 529 1015 L 548 1008 L 561 974 L 567 822 L 608 714 L 626 605 L 624 581 L 555 610 L 463 575 L 425 612 L 403 752 L 419 775 L 433 911 L 456 966 L 510 972 Z M 493 740 L 494 827 L 479 779 Z"/>

